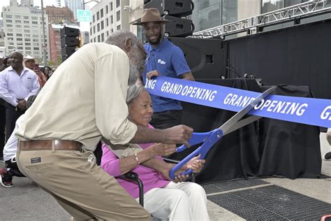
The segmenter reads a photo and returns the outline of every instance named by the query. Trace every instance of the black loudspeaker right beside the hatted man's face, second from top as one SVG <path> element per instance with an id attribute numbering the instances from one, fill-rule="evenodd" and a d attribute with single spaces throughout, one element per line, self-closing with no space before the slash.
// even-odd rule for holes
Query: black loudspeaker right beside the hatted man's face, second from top
<path id="1" fill-rule="evenodd" d="M 180 17 L 173 17 L 170 15 L 163 16 L 163 19 L 170 20 L 170 22 L 164 25 L 164 35 L 165 36 L 191 36 L 194 31 L 194 25 L 192 20 L 183 19 Z"/>

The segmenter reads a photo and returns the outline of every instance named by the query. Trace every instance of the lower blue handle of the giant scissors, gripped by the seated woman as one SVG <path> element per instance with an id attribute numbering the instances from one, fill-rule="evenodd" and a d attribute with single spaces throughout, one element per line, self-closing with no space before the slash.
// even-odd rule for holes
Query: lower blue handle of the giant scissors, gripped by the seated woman
<path id="1" fill-rule="evenodd" d="M 212 148 L 212 146 L 216 143 L 216 141 L 218 141 L 223 136 L 223 131 L 221 131 L 220 129 L 214 129 L 213 131 L 210 131 L 208 133 L 197 133 L 197 134 L 209 134 L 209 136 L 204 141 L 203 145 L 200 145 L 199 148 L 191 152 L 188 156 L 182 159 L 181 162 L 179 162 L 176 166 L 174 166 L 170 170 L 169 176 L 172 180 L 175 179 L 175 173 L 179 169 L 181 169 L 187 162 L 189 162 L 193 157 L 200 155 L 200 159 L 204 159 L 209 149 Z M 192 172 L 193 172 L 192 169 L 188 169 L 181 175 L 187 175 Z"/>

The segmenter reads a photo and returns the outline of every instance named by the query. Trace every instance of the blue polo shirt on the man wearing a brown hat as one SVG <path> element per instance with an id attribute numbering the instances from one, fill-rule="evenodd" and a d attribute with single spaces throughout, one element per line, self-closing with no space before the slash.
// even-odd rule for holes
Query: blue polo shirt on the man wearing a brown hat
<path id="1" fill-rule="evenodd" d="M 144 45 L 149 59 L 145 65 L 145 71 L 142 73 L 142 80 L 146 83 L 146 74 L 149 71 L 158 71 L 160 76 L 179 78 L 183 73 L 189 73 L 191 70 L 186 62 L 182 50 L 163 38 L 161 43 L 153 48 L 149 43 Z M 165 97 L 150 94 L 154 112 L 163 112 L 166 110 L 182 110 L 179 101 Z"/>

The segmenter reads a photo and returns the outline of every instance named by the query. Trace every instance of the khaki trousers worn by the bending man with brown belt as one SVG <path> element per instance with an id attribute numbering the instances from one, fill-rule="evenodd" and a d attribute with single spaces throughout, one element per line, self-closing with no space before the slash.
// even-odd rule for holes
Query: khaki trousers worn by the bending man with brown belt
<path id="1" fill-rule="evenodd" d="M 150 220 L 150 215 L 96 165 L 92 152 L 17 148 L 17 165 L 75 220 Z"/>

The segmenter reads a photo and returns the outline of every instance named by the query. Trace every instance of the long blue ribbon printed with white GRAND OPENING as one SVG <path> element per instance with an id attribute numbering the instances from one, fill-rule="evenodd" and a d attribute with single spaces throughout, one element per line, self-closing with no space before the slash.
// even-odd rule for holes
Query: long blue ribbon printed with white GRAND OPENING
<path id="1" fill-rule="evenodd" d="M 150 94 L 193 104 L 240 111 L 260 93 L 196 81 L 157 77 L 146 80 Z M 331 100 L 269 95 L 257 104 L 250 115 L 331 127 Z"/>

